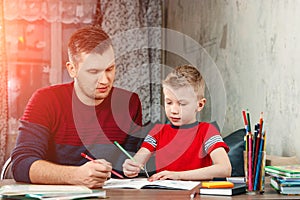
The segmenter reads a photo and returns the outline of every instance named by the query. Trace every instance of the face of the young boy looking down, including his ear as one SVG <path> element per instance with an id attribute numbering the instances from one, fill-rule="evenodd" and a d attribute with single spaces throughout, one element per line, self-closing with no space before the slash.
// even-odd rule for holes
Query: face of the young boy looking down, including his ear
<path id="1" fill-rule="evenodd" d="M 174 126 L 191 124 L 196 121 L 197 112 L 201 111 L 205 99 L 199 100 L 192 87 L 172 89 L 164 87 L 165 112 Z"/>

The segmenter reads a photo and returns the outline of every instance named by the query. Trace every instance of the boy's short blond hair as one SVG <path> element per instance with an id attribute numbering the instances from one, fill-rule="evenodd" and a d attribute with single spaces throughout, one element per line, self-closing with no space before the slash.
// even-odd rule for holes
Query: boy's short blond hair
<path id="1" fill-rule="evenodd" d="M 163 81 L 163 87 L 178 89 L 185 86 L 193 87 L 198 99 L 204 98 L 205 82 L 198 69 L 190 65 L 176 67 Z"/>

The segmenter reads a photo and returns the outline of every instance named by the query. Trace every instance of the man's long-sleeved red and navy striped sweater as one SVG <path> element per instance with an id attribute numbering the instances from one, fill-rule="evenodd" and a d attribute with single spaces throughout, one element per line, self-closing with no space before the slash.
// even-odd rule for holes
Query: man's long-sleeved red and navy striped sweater
<path id="1" fill-rule="evenodd" d="M 140 129 L 142 109 L 136 93 L 115 87 L 100 105 L 87 106 L 75 95 L 72 82 L 36 91 L 20 122 L 12 169 L 17 181 L 30 182 L 34 161 L 78 166 L 87 162 L 82 152 L 121 170 L 123 161 L 118 161 L 121 154 L 113 142 L 125 146 L 128 135 Z"/>

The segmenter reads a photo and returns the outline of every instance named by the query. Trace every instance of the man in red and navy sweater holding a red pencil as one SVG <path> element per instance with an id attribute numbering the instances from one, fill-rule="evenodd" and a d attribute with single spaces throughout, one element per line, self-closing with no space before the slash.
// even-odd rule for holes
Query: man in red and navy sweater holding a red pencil
<path id="1" fill-rule="evenodd" d="M 74 81 L 35 92 L 21 117 L 12 152 L 16 181 L 101 187 L 123 162 L 113 142 L 126 146 L 141 127 L 137 94 L 113 87 L 114 51 L 103 30 L 76 31 L 68 56 Z M 81 153 L 98 160 L 87 162 Z"/>

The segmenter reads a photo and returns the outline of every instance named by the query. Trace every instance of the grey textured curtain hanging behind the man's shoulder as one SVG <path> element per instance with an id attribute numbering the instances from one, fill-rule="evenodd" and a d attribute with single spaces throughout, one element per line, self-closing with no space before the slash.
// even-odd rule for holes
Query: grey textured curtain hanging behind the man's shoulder
<path id="1" fill-rule="evenodd" d="M 115 86 L 136 92 L 143 123 L 160 119 L 161 1 L 101 0 L 102 28 L 110 35 L 116 56 Z M 148 49 L 149 48 L 149 49 Z"/>

